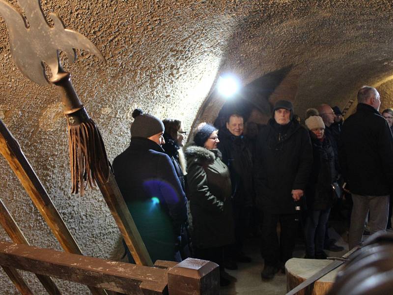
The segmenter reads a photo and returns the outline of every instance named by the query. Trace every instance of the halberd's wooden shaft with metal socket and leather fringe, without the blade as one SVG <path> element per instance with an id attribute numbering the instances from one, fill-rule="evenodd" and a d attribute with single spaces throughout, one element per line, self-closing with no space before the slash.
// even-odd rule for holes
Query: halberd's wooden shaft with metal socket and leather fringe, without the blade
<path id="1" fill-rule="evenodd" d="M 51 83 L 61 95 L 68 123 L 72 192 L 80 188 L 83 194 L 84 178 L 90 187 L 97 184 L 136 264 L 153 266 L 112 173 L 100 131 L 79 100 L 70 74 L 60 72 Z"/>

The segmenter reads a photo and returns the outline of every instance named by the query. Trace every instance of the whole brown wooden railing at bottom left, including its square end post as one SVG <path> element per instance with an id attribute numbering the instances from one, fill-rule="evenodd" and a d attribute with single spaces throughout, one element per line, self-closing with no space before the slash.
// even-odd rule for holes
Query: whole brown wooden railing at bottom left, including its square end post
<path id="1" fill-rule="evenodd" d="M 150 267 L 0 241 L 0 265 L 121 294 L 217 295 L 220 292 L 219 266 L 193 258 L 178 264 L 159 260 L 156 267 Z"/>

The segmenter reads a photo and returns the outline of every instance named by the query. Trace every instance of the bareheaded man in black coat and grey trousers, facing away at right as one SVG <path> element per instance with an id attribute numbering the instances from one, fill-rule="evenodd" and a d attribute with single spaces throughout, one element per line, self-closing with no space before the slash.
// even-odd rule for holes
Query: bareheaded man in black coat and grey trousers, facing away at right
<path id="1" fill-rule="evenodd" d="M 352 193 L 349 249 L 362 244 L 366 214 L 370 233 L 385 231 L 389 195 L 393 188 L 393 137 L 379 113 L 378 91 L 364 86 L 358 92 L 356 113 L 342 126 L 339 160 L 346 188 Z"/>

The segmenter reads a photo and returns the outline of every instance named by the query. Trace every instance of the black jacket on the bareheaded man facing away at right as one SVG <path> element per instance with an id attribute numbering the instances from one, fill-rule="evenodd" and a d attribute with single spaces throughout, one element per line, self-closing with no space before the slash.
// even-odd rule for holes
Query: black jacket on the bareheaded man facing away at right
<path id="1" fill-rule="evenodd" d="M 393 137 L 388 122 L 372 106 L 360 103 L 344 121 L 338 156 L 351 193 L 384 196 L 393 191 Z"/>

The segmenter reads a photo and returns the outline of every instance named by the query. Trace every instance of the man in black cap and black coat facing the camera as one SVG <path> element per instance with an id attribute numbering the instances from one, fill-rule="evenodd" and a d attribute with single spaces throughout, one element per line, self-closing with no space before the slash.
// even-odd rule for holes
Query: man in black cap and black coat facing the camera
<path id="1" fill-rule="evenodd" d="M 297 235 L 295 207 L 304 194 L 312 166 L 309 132 L 292 119 L 292 103 L 278 101 L 273 116 L 258 135 L 254 164 L 256 205 L 263 211 L 264 279 L 272 279 L 292 257 Z M 279 221 L 280 244 L 276 230 Z"/>

